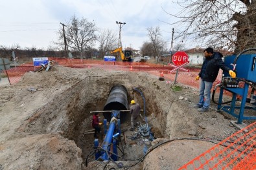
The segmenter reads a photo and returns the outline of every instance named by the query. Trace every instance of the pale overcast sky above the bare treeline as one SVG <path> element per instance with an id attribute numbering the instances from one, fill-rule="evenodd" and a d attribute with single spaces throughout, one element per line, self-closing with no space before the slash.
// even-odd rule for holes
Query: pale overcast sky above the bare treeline
<path id="1" fill-rule="evenodd" d="M 119 35 L 116 21 L 122 27 L 122 47 L 139 49 L 149 41 L 146 28 L 160 27 L 162 37 L 170 47 L 172 18 L 175 12 L 170 0 L 0 0 L 0 45 L 21 48 L 45 48 L 57 41 L 56 32 L 74 16 L 95 21 L 99 29 L 111 29 Z M 164 23 L 164 22 L 166 23 Z M 176 28 L 174 28 L 175 31 Z M 180 43 L 180 42 L 174 42 Z M 95 46 L 97 48 L 97 46 Z"/>

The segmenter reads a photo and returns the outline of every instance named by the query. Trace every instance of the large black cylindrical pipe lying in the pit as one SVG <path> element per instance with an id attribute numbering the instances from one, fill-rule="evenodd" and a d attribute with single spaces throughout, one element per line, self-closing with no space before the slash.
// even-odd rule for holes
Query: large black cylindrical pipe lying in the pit
<path id="1" fill-rule="evenodd" d="M 104 106 L 104 111 L 112 111 L 112 110 L 127 110 L 128 109 L 128 99 L 127 99 L 127 90 L 123 85 L 115 85 L 110 90 L 110 95 L 108 96 L 108 100 Z M 120 113 L 120 122 L 125 120 L 127 112 Z M 111 112 L 104 112 L 104 118 L 110 122 Z"/>

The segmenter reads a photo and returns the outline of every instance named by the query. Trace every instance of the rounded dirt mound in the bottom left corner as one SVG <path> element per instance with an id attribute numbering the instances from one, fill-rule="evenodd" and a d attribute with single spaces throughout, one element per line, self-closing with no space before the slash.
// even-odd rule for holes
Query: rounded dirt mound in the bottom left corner
<path id="1" fill-rule="evenodd" d="M 28 135 L 1 145 L 3 169 L 81 169 L 82 151 L 59 134 Z M 64 156 L 65 155 L 65 156 Z"/>

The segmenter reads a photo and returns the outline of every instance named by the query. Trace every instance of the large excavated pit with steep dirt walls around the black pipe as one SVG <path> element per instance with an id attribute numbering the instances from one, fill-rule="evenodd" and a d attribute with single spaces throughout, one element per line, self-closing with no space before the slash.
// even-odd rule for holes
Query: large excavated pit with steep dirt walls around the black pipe
<path id="1" fill-rule="evenodd" d="M 106 129 L 102 125 L 102 135 L 99 135 L 99 139 L 97 139 L 100 148 L 106 131 L 109 130 L 111 119 L 111 112 L 106 111 L 121 110 L 117 116 L 117 119 L 120 118 L 121 122 L 121 125 L 119 125 L 121 135 L 116 138 L 118 140 L 116 154 L 118 154 L 119 161 L 130 160 L 131 162 L 134 160 L 132 164 L 135 164 L 135 166 L 130 163 L 132 165 L 130 168 L 133 169 L 140 163 L 138 158 L 142 157 L 151 147 L 152 140 L 163 138 L 165 135 L 166 118 L 161 116 L 161 109 L 158 109 L 157 103 L 154 103 L 154 97 L 148 93 L 145 96 L 143 95 L 144 87 L 136 89 L 130 83 L 127 83 L 126 81 L 131 80 L 128 74 L 119 74 L 117 77 L 114 76 L 112 79 L 108 76 L 105 78 L 89 76 L 85 80 L 78 81 L 50 103 L 34 112 L 34 117 L 30 118 L 25 127 L 25 133 L 60 133 L 64 138 L 73 140 L 82 150 L 82 160 L 86 168 L 89 162 L 95 160 L 94 151 L 97 151 L 94 144 L 95 138 L 93 137 L 94 129 L 91 127 L 93 111 L 102 111 L 100 112 L 100 122 L 104 122 L 104 119 L 108 122 L 106 123 Z M 135 131 L 129 131 L 130 112 L 128 109 L 131 100 L 135 100 L 141 105 L 141 115 L 136 120 Z M 147 116 L 151 114 L 156 115 L 154 116 L 154 119 L 156 119 L 154 122 L 161 123 L 157 123 L 157 125 L 148 124 Z M 115 123 L 115 126 L 117 126 L 117 123 Z M 150 130 L 148 132 L 150 135 L 142 136 L 138 131 L 139 127 Z M 117 127 L 115 133 L 117 133 Z M 113 153 L 113 151 L 110 151 L 110 153 Z M 112 158 L 108 159 L 114 161 Z M 137 165 L 137 168 L 140 169 L 141 164 Z"/>

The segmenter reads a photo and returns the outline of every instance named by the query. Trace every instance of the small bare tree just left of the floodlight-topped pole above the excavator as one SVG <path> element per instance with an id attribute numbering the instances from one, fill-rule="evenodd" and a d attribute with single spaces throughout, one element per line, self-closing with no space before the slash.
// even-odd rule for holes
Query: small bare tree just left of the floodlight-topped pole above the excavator
<path id="1" fill-rule="evenodd" d="M 100 56 L 103 58 L 106 52 L 114 50 L 118 47 L 118 37 L 111 30 L 104 30 L 100 32 L 98 41 L 100 43 L 99 52 Z"/>

